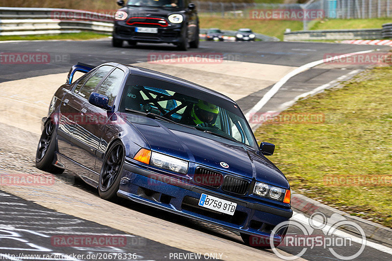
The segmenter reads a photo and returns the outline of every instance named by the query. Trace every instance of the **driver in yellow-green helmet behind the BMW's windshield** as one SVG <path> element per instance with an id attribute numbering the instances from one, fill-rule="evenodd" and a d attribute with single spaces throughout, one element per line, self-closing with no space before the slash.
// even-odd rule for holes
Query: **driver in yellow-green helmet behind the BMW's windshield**
<path id="1" fill-rule="evenodd" d="M 192 108 L 191 118 L 195 125 L 213 127 L 217 121 L 218 114 L 218 106 L 199 100 Z"/>

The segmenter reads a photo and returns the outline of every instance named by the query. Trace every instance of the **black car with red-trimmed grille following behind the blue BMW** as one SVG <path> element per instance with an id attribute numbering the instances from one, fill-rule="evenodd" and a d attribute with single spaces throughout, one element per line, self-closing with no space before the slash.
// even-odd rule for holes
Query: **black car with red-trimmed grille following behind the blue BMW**
<path id="1" fill-rule="evenodd" d="M 123 8 L 115 14 L 113 47 L 123 41 L 170 43 L 180 50 L 199 45 L 196 5 L 190 0 L 119 0 Z"/>

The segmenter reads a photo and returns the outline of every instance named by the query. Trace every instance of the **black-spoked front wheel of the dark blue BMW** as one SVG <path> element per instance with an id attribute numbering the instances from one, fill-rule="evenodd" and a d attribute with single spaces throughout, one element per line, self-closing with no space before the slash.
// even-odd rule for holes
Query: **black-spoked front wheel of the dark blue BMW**
<path id="1" fill-rule="evenodd" d="M 124 167 L 124 154 L 123 143 L 118 141 L 110 146 L 105 155 L 98 186 L 99 196 L 103 199 L 113 200 L 117 197 Z"/>

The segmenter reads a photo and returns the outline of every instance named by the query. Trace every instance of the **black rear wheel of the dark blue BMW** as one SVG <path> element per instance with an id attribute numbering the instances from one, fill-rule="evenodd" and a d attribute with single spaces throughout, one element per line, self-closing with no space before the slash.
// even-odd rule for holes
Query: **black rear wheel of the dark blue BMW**
<path id="1" fill-rule="evenodd" d="M 54 153 L 56 150 L 56 130 L 53 122 L 49 120 L 44 127 L 38 142 L 35 155 L 35 166 L 51 173 L 62 173 L 64 169 L 53 166 Z"/>

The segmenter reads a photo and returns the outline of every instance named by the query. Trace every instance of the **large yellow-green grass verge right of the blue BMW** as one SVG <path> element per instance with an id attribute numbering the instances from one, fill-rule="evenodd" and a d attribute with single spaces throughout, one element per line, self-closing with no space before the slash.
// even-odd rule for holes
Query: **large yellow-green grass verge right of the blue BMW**
<path id="1" fill-rule="evenodd" d="M 392 227 L 391 73 L 392 67 L 376 68 L 284 112 L 323 114 L 322 123 L 275 122 L 263 124 L 255 133 L 258 141 L 276 144 L 269 158 L 294 190 L 388 227 Z M 329 175 L 343 178 L 343 184 Z M 386 179 L 378 184 L 369 180 L 375 176 Z M 344 185 L 346 178 L 354 181 Z"/>

